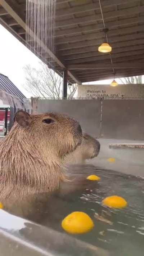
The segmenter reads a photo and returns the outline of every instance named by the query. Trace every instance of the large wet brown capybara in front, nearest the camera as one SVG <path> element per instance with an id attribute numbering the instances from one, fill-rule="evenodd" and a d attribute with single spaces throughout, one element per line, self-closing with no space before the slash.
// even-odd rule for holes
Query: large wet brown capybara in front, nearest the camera
<path id="1" fill-rule="evenodd" d="M 57 189 L 67 179 L 64 156 L 82 142 L 80 124 L 60 114 L 22 110 L 14 121 L 0 142 L 0 199 Z"/>

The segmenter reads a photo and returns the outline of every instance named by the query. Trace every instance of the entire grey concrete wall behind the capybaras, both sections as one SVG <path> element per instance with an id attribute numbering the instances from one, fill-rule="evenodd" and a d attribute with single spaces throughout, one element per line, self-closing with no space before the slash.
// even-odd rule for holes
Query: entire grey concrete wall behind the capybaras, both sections
<path id="1" fill-rule="evenodd" d="M 37 100 L 37 112 L 68 114 L 95 138 L 144 140 L 142 99 Z"/>

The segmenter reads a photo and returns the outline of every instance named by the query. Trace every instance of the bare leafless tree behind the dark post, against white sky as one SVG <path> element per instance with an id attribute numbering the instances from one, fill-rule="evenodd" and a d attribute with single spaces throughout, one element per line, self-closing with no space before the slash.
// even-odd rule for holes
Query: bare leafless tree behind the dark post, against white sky
<path id="1" fill-rule="evenodd" d="M 62 98 L 62 77 L 57 75 L 46 64 L 40 62 L 40 68 L 33 68 L 30 65 L 24 68 L 26 74 L 25 89 L 34 97 L 42 99 L 61 99 Z M 72 88 L 68 87 L 68 99 L 72 99 L 77 90 L 77 84 Z"/>

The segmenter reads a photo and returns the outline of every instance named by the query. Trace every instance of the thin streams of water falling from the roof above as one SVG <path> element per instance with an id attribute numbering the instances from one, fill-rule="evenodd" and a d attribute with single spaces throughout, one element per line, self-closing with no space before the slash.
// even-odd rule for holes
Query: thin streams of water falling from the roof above
<path id="1" fill-rule="evenodd" d="M 34 53 L 46 61 L 49 49 L 54 53 L 56 0 L 26 0 L 26 41 Z"/>

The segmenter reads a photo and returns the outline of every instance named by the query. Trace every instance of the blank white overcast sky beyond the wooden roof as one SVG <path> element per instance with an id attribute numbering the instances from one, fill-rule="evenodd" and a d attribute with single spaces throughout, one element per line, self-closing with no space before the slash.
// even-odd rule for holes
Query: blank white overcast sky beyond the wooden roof
<path id="1" fill-rule="evenodd" d="M 0 73 L 9 79 L 27 97 L 32 95 L 24 90 L 25 74 L 23 67 L 30 64 L 39 67 L 39 58 L 0 25 Z M 89 84 L 110 84 L 111 80 L 90 82 Z"/>

